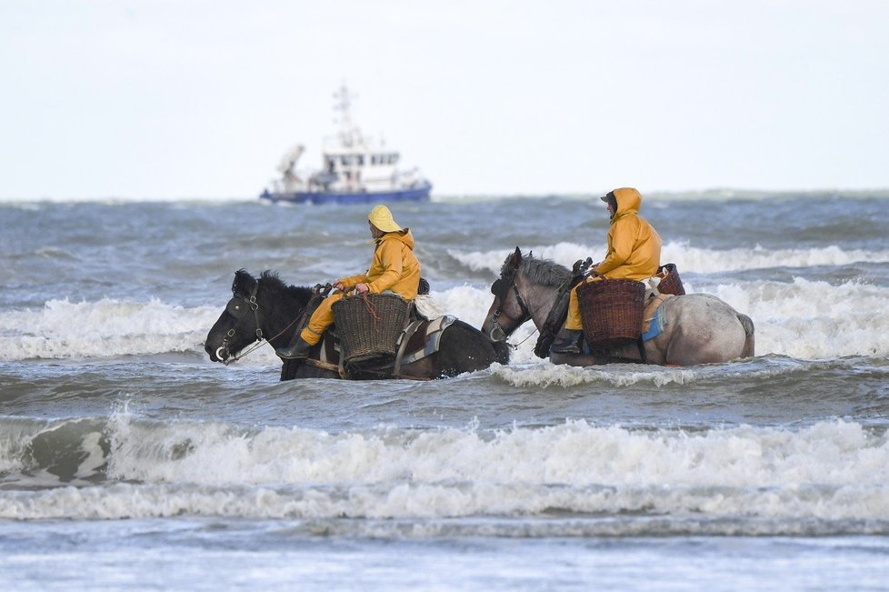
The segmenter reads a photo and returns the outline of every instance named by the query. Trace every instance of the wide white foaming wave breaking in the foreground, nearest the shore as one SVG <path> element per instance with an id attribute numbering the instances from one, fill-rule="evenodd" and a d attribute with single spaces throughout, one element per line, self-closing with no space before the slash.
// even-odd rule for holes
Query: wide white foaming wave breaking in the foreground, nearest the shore
<path id="1" fill-rule="evenodd" d="M 634 431 L 576 420 L 508 431 L 331 434 L 119 413 L 105 426 L 19 424 L 0 442 L 0 517 L 8 519 L 889 520 L 889 436 L 842 421 L 798 431 Z M 11 477 L 16 470 L 43 480 Z M 48 487 L 52 475 L 60 476 L 56 487 Z"/>

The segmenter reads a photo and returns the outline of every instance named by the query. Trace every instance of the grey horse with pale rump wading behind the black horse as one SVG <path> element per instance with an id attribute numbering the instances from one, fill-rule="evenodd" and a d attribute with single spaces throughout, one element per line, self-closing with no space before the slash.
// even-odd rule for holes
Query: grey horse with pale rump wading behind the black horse
<path id="1" fill-rule="evenodd" d="M 553 261 L 537 259 L 521 250 L 506 257 L 500 278 L 491 286 L 494 302 L 484 317 L 482 332 L 505 338 L 526 321 L 544 327 L 560 286 L 570 281 L 571 271 Z M 644 342 L 644 361 L 662 366 L 692 366 L 728 362 L 754 356 L 754 323 L 716 296 L 689 294 L 667 298 L 664 330 Z M 557 354 L 554 364 L 592 366 L 610 359 L 642 361 L 635 344 L 614 350 L 609 356 Z"/>

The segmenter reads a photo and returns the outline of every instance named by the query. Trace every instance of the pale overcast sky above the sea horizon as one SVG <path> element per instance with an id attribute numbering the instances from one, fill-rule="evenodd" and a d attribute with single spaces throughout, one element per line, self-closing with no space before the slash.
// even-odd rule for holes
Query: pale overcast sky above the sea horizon
<path id="1" fill-rule="evenodd" d="M 434 196 L 889 187 L 885 0 L 3 0 L 0 199 L 256 196 L 346 84 Z"/>

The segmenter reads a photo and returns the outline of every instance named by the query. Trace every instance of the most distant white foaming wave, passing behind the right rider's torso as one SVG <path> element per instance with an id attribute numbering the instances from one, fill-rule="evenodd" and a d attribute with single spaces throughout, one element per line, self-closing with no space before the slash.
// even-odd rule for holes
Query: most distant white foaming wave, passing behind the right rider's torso
<path id="1" fill-rule="evenodd" d="M 576 243 L 558 243 L 550 246 L 534 246 L 529 250 L 534 256 L 552 259 L 564 266 L 574 265 L 577 259 L 590 256 L 601 261 L 605 256 L 604 246 L 587 246 Z M 489 271 L 492 276 L 500 273 L 500 267 L 509 251 L 464 252 L 448 250 L 462 266 L 471 271 Z M 864 249 L 843 249 L 839 246 L 824 246 L 811 249 L 766 249 L 762 246 L 734 249 L 707 249 L 690 246 L 685 242 L 669 242 L 661 251 L 661 261 L 669 261 L 678 266 L 680 273 L 712 274 L 718 272 L 770 269 L 773 267 L 848 266 L 853 263 L 889 262 L 889 251 L 868 251 Z"/>

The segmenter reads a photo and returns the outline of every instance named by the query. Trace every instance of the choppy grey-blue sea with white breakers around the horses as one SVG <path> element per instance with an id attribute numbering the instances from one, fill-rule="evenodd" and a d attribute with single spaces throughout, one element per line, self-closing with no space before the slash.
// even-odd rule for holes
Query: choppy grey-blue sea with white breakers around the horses
<path id="1" fill-rule="evenodd" d="M 235 271 L 370 262 L 370 205 L 0 203 L 2 590 L 887 590 L 889 192 L 644 196 L 756 356 L 279 382 L 212 363 Z M 481 326 L 516 246 L 604 256 L 597 196 L 391 204 Z"/>

